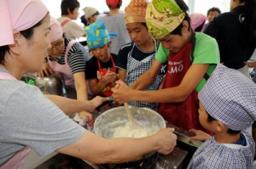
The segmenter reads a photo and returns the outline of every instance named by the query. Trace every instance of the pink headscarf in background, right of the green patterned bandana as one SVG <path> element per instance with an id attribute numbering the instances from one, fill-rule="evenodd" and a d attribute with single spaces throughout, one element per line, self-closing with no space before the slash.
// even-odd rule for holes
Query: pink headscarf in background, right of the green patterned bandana
<path id="1" fill-rule="evenodd" d="M 190 14 L 189 15 L 190 18 L 190 25 L 191 28 L 195 31 L 195 29 L 199 26 L 201 26 L 201 30 L 199 31 L 203 31 L 204 27 L 205 27 L 205 23 L 207 21 L 207 16 L 205 16 L 204 14 L 200 14 L 200 13 L 194 13 L 194 14 Z"/>

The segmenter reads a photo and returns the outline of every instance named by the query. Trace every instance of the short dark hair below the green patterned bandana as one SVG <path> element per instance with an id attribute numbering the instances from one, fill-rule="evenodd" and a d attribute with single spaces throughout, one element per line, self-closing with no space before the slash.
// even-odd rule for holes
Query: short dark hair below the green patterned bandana
<path id="1" fill-rule="evenodd" d="M 184 20 L 188 21 L 188 23 L 189 23 L 189 30 L 190 30 L 190 18 L 189 18 L 189 14 L 187 13 L 187 12 L 189 12 L 189 7 L 187 6 L 186 3 L 183 2 L 183 0 L 176 0 L 176 3 L 179 6 L 179 8 L 181 8 L 183 10 L 183 12 L 185 13 Z M 183 29 L 183 24 L 181 23 L 170 34 L 182 36 L 182 29 Z"/>

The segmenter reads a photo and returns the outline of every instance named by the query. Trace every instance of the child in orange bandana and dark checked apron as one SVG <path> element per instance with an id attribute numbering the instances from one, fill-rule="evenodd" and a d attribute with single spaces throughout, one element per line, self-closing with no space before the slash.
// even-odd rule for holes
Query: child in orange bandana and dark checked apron
<path id="1" fill-rule="evenodd" d="M 154 55 L 160 44 L 148 34 L 145 20 L 147 5 L 148 3 L 144 0 L 131 0 L 125 8 L 125 24 L 132 42 L 120 49 L 116 65 L 119 68 L 119 79 L 130 87 L 152 66 Z M 165 68 L 161 69 L 154 82 L 144 90 L 157 90 L 165 74 Z M 153 110 L 157 107 L 157 103 L 148 102 L 129 102 L 129 104 Z"/>

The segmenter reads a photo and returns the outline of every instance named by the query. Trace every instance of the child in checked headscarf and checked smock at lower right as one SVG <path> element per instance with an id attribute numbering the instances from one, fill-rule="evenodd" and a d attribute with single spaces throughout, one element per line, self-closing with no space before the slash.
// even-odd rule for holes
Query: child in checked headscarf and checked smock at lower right
<path id="1" fill-rule="evenodd" d="M 239 71 L 218 65 L 199 93 L 201 125 L 214 132 L 188 168 L 253 168 L 254 142 L 241 132 L 256 119 L 256 85 Z"/>

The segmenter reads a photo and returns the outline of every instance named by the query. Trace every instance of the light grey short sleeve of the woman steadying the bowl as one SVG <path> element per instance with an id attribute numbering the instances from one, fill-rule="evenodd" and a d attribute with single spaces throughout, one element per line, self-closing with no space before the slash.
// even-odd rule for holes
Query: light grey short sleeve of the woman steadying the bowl
<path id="1" fill-rule="evenodd" d="M 72 121 L 38 87 L 24 85 L 12 93 L 6 103 L 7 143 L 32 147 L 38 155 L 72 144 L 84 134 L 84 128 Z M 9 126 L 9 127 L 8 127 Z"/>

